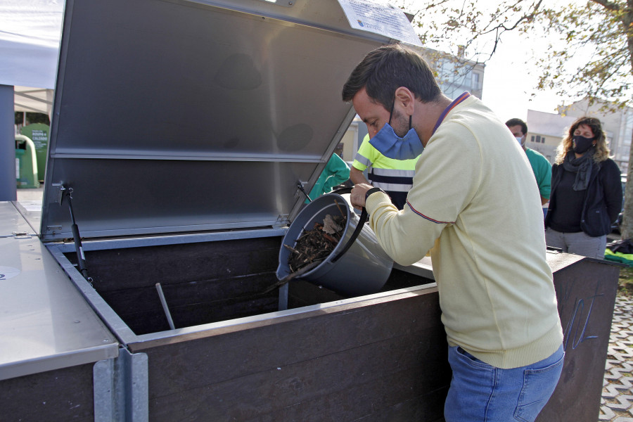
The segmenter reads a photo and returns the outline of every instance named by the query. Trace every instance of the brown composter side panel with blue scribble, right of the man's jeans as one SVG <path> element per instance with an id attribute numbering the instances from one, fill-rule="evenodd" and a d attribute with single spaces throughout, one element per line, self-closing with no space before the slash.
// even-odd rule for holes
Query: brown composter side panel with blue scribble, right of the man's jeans
<path id="1" fill-rule="evenodd" d="M 620 267 L 585 259 L 554 273 L 565 361 L 537 422 L 596 422 Z"/>

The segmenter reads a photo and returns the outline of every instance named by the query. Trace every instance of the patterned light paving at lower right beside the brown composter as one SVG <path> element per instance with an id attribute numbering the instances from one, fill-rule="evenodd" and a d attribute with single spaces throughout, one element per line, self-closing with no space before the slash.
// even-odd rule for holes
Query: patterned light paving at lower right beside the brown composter
<path id="1" fill-rule="evenodd" d="M 603 385 L 598 420 L 633 422 L 633 298 L 615 300 Z"/>

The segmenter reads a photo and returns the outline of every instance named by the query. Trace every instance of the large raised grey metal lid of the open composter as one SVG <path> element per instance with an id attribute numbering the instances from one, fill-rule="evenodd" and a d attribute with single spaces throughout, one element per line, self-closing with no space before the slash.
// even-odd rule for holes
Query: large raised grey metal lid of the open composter
<path id="1" fill-rule="evenodd" d="M 352 3 L 68 0 L 42 239 L 72 237 L 63 189 L 84 237 L 288 224 L 354 116 L 347 76 L 395 37 Z"/>

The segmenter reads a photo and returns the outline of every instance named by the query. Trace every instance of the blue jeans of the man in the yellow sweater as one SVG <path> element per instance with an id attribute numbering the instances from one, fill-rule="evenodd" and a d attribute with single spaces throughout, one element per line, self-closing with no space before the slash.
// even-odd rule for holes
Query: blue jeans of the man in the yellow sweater
<path id="1" fill-rule="evenodd" d="M 541 362 L 499 369 L 461 347 L 449 347 L 453 370 L 444 405 L 446 422 L 531 422 L 554 392 L 563 371 L 563 346 Z"/>

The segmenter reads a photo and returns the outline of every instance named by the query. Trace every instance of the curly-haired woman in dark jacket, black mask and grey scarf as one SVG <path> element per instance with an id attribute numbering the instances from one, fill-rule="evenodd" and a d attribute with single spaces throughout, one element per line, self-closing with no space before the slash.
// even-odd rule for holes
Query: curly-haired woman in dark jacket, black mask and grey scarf
<path id="1" fill-rule="evenodd" d="M 580 117 L 558 146 L 551 168 L 547 245 L 604 259 L 606 235 L 622 210 L 621 186 L 600 120 Z"/>

